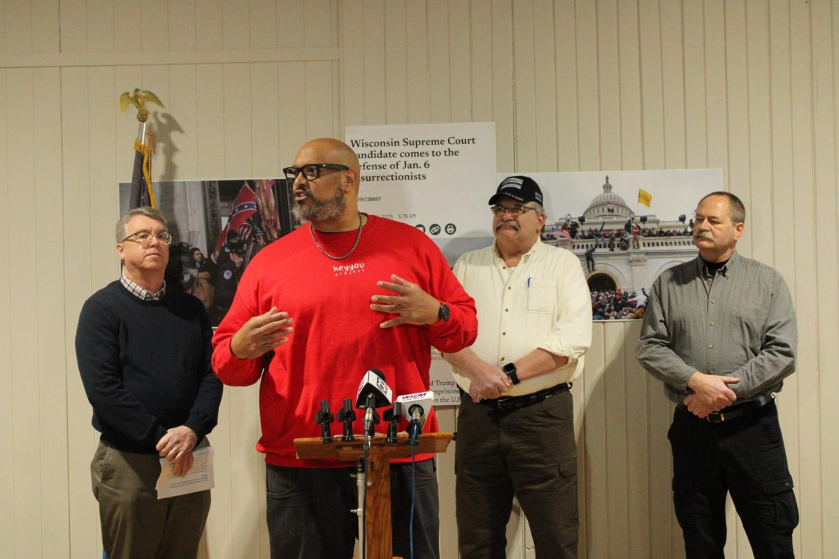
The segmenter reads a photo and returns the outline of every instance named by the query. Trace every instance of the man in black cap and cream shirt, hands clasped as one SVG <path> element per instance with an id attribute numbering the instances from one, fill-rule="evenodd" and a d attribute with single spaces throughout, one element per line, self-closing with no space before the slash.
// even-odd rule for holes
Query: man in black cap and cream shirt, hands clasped
<path id="1" fill-rule="evenodd" d="M 538 557 L 576 557 L 571 380 L 591 344 L 591 295 L 571 251 L 540 240 L 542 191 L 514 176 L 489 199 L 495 242 L 454 272 L 478 317 L 475 344 L 444 359 L 461 388 L 457 529 L 461 556 L 503 557 L 519 498 Z"/>

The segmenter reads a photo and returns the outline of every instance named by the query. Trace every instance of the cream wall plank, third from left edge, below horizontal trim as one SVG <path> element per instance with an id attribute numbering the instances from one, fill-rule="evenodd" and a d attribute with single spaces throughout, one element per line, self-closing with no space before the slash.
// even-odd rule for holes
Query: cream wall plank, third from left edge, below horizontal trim
<path id="1" fill-rule="evenodd" d="M 68 245 L 61 201 L 61 105 L 57 68 L 34 70 L 34 244 L 38 323 L 38 391 L 42 553 L 64 556 L 70 543 L 67 494 L 67 369 L 64 320 L 64 268 L 56 255 Z M 70 246 L 72 243 L 70 243 Z"/>

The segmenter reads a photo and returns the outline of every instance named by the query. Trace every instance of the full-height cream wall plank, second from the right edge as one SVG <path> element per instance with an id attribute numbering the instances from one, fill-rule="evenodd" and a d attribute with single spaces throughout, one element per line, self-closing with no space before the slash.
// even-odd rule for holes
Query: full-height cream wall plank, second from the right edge
<path id="1" fill-rule="evenodd" d="M 821 429 L 819 421 L 819 371 L 816 298 L 816 198 L 813 153 L 813 58 L 810 4 L 790 3 L 790 62 L 792 75 L 792 164 L 798 188 L 793 199 L 791 225 L 795 230 L 795 304 L 799 315 L 797 372 L 800 421 L 800 476 L 795 480 L 801 506 L 797 535 L 802 556 L 821 556 Z M 789 217 L 788 217 L 789 220 Z"/>

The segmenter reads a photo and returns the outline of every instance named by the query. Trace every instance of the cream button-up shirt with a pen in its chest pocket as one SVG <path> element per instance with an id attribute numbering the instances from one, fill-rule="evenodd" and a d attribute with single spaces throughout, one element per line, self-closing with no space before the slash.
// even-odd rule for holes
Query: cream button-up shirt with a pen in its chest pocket
<path id="1" fill-rule="evenodd" d="M 522 380 L 503 396 L 524 396 L 571 382 L 583 369 L 591 345 L 591 293 L 580 260 L 571 252 L 537 240 L 516 267 L 508 267 L 495 244 L 466 252 L 455 276 L 477 307 L 477 339 L 472 351 L 499 367 L 537 348 L 568 358 L 544 375 Z M 452 367 L 458 386 L 470 380 Z"/>

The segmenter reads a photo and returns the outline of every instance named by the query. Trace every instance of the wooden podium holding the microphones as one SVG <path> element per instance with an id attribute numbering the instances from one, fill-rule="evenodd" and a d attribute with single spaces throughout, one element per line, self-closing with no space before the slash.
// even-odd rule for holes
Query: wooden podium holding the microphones
<path id="1" fill-rule="evenodd" d="M 420 435 L 416 445 L 417 454 L 445 453 L 451 442 L 451 432 L 430 432 Z M 390 523 L 390 459 L 408 458 L 411 448 L 408 434 L 399 433 L 395 444 L 385 443 L 384 435 L 377 433 L 371 439 L 369 467 L 366 473 L 367 503 L 367 559 L 392 559 L 393 541 Z M 363 462 L 364 437 L 354 441 L 342 441 L 335 437 L 332 443 L 324 443 L 320 437 L 295 438 L 297 458 L 309 460 L 335 458 L 342 462 Z M 361 494 L 359 494 L 361 499 Z M 362 534 L 358 534 L 359 541 Z"/>

